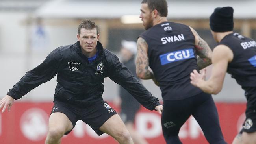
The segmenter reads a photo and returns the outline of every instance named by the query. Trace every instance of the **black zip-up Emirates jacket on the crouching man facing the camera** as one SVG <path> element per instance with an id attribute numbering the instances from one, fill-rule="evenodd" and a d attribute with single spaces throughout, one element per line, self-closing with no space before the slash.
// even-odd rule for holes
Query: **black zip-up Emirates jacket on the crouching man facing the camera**
<path id="1" fill-rule="evenodd" d="M 7 93 L 19 99 L 30 90 L 52 79 L 57 74 L 54 100 L 86 107 L 103 101 L 105 77 L 124 87 L 149 110 L 160 105 L 158 98 L 137 81 L 132 73 L 120 63 L 118 57 L 97 42 L 98 57 L 89 63 L 82 54 L 80 42 L 53 50 L 39 66 L 26 72 Z"/>

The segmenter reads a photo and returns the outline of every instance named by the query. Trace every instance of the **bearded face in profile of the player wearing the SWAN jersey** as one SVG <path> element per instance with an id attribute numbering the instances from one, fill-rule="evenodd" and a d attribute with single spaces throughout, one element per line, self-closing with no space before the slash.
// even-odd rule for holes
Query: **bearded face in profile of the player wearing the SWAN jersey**
<path id="1" fill-rule="evenodd" d="M 152 11 L 150 11 L 150 9 L 148 8 L 148 4 L 141 4 L 141 15 L 139 15 L 139 18 L 141 18 L 141 21 L 143 21 L 143 26 L 145 30 L 153 26 L 153 18 L 151 14 Z"/>

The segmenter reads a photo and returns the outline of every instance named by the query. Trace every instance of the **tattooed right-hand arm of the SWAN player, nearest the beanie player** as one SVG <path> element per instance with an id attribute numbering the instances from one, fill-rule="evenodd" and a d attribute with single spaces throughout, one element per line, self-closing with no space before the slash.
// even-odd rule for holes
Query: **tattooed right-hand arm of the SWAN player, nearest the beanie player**
<path id="1" fill-rule="evenodd" d="M 211 65 L 212 51 L 208 44 L 198 35 L 197 31 L 189 27 L 195 36 L 195 49 L 199 57 L 197 57 L 197 65 L 201 70 L 208 65 Z"/>

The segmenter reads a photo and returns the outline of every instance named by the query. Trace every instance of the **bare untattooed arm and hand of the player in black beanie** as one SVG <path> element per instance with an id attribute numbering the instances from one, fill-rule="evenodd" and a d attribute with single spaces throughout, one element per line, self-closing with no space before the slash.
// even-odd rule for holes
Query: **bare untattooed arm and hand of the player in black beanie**
<path id="1" fill-rule="evenodd" d="M 205 81 L 205 71 L 199 74 L 193 70 L 190 74 L 191 84 L 199 87 L 202 91 L 210 94 L 218 94 L 222 87 L 228 67 L 228 63 L 233 59 L 233 52 L 225 45 L 219 45 L 213 50 L 213 68 L 209 80 Z"/>

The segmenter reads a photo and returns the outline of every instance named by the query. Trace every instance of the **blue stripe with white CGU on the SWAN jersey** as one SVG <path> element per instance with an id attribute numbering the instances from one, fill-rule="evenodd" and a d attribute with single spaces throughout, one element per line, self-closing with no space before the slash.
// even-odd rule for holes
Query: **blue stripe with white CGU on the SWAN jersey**
<path id="1" fill-rule="evenodd" d="M 159 56 L 161 65 L 195 57 L 193 48 L 169 52 Z"/>

